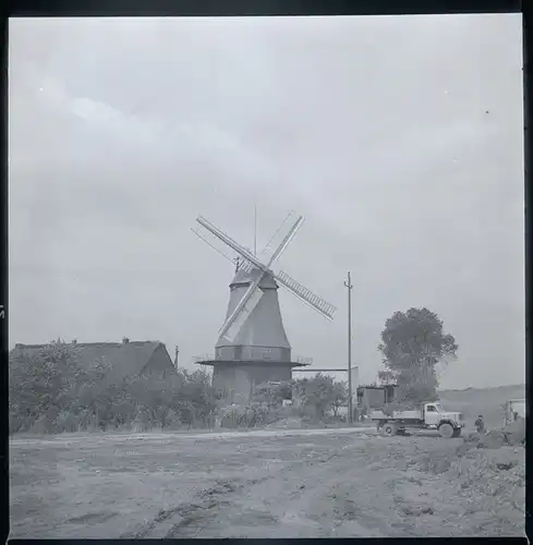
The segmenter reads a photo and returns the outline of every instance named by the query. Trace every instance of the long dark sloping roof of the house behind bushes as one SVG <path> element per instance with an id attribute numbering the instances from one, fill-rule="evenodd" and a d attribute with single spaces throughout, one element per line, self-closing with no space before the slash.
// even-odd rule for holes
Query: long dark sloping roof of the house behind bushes
<path id="1" fill-rule="evenodd" d="M 83 367 L 89 368 L 97 360 L 101 359 L 111 364 L 108 375 L 111 382 L 138 375 L 159 347 L 162 347 L 168 355 L 167 348 L 160 341 L 75 342 L 73 344 Z M 14 352 L 31 356 L 36 355 L 45 347 L 47 344 L 15 344 Z M 169 363 L 172 366 L 170 356 Z"/>

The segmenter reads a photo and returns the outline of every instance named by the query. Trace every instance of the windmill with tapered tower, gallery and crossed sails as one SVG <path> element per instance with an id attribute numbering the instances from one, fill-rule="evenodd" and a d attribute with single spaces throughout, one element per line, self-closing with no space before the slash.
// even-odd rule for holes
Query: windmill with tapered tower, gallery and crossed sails
<path id="1" fill-rule="evenodd" d="M 283 270 L 275 272 L 271 268 L 302 226 L 302 216 L 296 218 L 272 251 L 272 241 L 281 231 L 281 228 L 278 229 L 259 256 L 237 243 L 202 216 L 196 221 L 238 254 L 235 275 L 230 283 L 226 320 L 215 346 L 215 359 L 204 359 L 197 363 L 213 366 L 213 386 L 223 397 L 231 401 L 245 401 L 256 385 L 269 380 L 290 380 L 292 368 L 304 365 L 291 359 L 291 346 L 279 308 L 279 286 L 327 319 L 334 318 L 336 307 L 312 293 Z M 201 233 L 193 232 L 217 250 Z M 231 259 L 226 254 L 222 255 Z"/>

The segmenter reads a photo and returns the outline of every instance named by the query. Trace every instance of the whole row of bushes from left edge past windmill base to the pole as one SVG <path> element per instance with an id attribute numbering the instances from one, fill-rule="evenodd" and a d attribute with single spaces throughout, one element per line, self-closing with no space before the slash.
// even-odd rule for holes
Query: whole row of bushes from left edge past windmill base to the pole
<path id="1" fill-rule="evenodd" d="M 227 407 L 202 371 L 113 384 L 109 362 L 97 360 L 89 368 L 80 362 L 76 346 L 61 340 L 33 356 L 10 354 L 10 434 L 258 427 L 290 416 L 324 423 L 338 416 L 348 398 L 343 383 L 317 375 L 259 385 L 246 405 Z M 299 407 L 283 407 L 294 392 Z"/>

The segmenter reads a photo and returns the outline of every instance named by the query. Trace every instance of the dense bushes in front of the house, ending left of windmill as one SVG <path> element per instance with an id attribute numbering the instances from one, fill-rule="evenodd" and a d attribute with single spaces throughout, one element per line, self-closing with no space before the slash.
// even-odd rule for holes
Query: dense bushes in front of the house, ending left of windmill
<path id="1" fill-rule="evenodd" d="M 207 374 L 178 372 L 172 376 L 108 379 L 110 362 L 80 364 L 78 348 L 61 340 L 37 354 L 10 354 L 10 432 L 54 433 L 138 425 L 142 429 L 170 423 L 207 425 L 215 399 Z"/>

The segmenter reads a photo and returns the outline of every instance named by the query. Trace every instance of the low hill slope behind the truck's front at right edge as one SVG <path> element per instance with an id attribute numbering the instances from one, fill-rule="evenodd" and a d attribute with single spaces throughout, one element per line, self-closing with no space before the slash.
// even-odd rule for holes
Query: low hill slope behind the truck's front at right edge
<path id="1" fill-rule="evenodd" d="M 439 397 L 446 409 L 461 411 L 468 427 L 479 414 L 483 414 L 488 428 L 501 427 L 504 404 L 510 399 L 525 398 L 525 385 L 499 386 L 497 388 L 467 388 L 464 390 L 441 390 Z"/>

